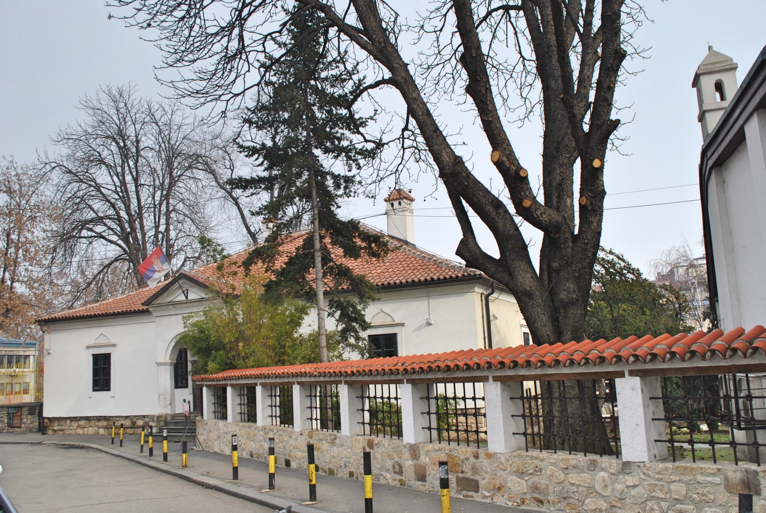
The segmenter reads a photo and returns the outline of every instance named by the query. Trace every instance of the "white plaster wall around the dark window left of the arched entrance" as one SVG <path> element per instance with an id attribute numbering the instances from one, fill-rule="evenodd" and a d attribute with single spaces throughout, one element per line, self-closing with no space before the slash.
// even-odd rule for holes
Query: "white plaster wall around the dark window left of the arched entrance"
<path id="1" fill-rule="evenodd" d="M 45 416 L 153 415 L 157 405 L 151 314 L 51 325 L 46 334 Z M 90 347 L 100 335 L 109 344 Z M 92 354 L 111 353 L 111 391 L 93 392 Z"/>

